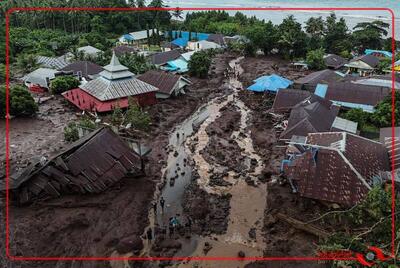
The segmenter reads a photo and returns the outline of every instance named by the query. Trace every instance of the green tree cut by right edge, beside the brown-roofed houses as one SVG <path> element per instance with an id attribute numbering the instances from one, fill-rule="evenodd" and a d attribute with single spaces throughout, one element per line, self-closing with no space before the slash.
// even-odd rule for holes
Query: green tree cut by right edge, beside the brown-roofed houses
<path id="1" fill-rule="evenodd" d="M 400 119 L 400 93 L 395 93 L 395 126 L 398 126 Z M 371 116 L 371 120 L 378 127 L 391 127 L 392 126 L 392 96 L 387 96 L 376 107 Z"/>

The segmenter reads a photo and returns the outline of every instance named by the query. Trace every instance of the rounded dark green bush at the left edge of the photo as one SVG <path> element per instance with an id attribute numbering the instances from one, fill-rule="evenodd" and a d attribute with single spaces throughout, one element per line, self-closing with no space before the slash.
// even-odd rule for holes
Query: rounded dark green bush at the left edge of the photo
<path id="1" fill-rule="evenodd" d="M 34 115 L 38 106 L 29 91 L 21 86 L 10 88 L 9 92 L 9 112 L 13 116 Z M 6 87 L 0 88 L 0 116 L 6 116 Z"/>

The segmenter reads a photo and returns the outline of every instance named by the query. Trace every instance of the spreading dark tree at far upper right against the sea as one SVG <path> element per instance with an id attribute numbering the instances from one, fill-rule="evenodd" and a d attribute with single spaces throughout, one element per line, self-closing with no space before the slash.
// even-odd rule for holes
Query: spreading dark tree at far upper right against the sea
<path id="1" fill-rule="evenodd" d="M 353 29 L 354 46 L 360 53 L 363 53 L 367 48 L 382 48 L 382 38 L 387 35 L 389 24 L 383 21 L 361 22 L 357 23 Z"/>

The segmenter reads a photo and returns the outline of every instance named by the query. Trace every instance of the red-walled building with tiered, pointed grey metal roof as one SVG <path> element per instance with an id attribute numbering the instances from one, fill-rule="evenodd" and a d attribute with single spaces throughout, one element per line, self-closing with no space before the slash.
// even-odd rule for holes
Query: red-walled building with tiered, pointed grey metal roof
<path id="1" fill-rule="evenodd" d="M 115 107 L 126 108 L 129 106 L 129 97 L 140 106 L 156 103 L 158 89 L 136 79 L 128 67 L 119 62 L 115 53 L 110 64 L 103 68 L 98 78 L 64 92 L 64 98 L 81 110 L 96 112 L 108 112 Z"/>

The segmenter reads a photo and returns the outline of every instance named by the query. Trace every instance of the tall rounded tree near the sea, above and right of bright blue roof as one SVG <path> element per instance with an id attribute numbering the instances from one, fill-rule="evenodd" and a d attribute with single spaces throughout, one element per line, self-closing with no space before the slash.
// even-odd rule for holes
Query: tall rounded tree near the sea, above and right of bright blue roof
<path id="1" fill-rule="evenodd" d="M 285 18 L 278 26 L 278 49 L 279 53 L 287 59 L 302 57 L 306 52 L 307 36 L 302 30 L 301 24 L 293 15 Z"/>

